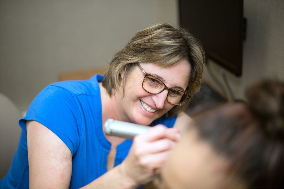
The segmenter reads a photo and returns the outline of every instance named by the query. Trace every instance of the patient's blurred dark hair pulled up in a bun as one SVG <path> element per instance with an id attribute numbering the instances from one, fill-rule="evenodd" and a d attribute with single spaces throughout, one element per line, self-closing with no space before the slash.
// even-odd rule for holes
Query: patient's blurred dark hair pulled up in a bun
<path id="1" fill-rule="evenodd" d="M 247 188 L 283 188 L 283 94 L 283 82 L 263 80 L 247 89 L 247 103 L 195 117 L 200 138 L 229 161 L 228 174 Z"/>

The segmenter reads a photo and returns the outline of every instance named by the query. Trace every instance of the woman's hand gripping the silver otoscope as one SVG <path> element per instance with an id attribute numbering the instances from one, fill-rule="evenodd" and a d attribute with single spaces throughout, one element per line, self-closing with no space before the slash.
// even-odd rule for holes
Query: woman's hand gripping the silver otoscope
<path id="1" fill-rule="evenodd" d="M 160 173 L 169 151 L 179 139 L 177 128 L 157 125 L 133 139 L 130 152 L 122 162 L 123 173 L 137 186 L 150 182 Z"/>

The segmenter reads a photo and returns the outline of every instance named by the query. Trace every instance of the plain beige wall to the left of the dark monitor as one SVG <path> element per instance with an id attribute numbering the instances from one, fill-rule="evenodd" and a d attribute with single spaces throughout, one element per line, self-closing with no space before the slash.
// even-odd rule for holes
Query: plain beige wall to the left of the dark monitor
<path id="1" fill-rule="evenodd" d="M 108 65 L 135 33 L 178 24 L 176 0 L 1 0 L 0 86 L 21 110 L 60 72 Z"/>

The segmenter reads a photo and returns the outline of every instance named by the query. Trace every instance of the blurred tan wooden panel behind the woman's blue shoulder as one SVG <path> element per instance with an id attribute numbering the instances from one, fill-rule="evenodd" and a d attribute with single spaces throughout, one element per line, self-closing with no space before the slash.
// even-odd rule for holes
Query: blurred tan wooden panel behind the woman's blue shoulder
<path id="1" fill-rule="evenodd" d="M 95 74 L 105 75 L 107 69 L 108 67 L 100 67 L 95 69 L 85 69 L 85 70 L 59 73 L 59 81 L 86 80 L 93 77 L 93 75 Z"/>

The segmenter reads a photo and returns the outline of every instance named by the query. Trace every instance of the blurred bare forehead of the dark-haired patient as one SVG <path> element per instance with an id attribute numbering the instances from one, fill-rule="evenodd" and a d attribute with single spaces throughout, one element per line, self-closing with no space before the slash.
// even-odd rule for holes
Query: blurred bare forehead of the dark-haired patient
<path id="1" fill-rule="evenodd" d="M 168 188 L 220 188 L 226 159 L 200 140 L 191 128 L 177 143 L 162 170 Z"/>

